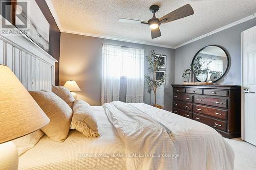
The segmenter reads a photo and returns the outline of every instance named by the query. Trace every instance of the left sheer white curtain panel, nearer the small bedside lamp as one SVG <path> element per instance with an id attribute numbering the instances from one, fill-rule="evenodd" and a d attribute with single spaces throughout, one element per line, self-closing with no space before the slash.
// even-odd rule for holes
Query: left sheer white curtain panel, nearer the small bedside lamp
<path id="1" fill-rule="evenodd" d="M 121 46 L 102 45 L 101 104 L 119 101 Z"/>

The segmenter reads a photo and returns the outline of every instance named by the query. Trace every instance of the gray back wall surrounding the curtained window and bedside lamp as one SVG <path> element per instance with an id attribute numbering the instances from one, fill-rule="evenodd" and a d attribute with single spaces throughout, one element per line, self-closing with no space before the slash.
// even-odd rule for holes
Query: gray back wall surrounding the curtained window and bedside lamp
<path id="1" fill-rule="evenodd" d="M 101 63 L 102 44 L 123 45 L 144 48 L 145 74 L 148 73 L 146 56 L 154 49 L 156 54 L 164 54 L 166 59 L 166 85 L 157 90 L 157 103 L 164 105 L 166 110 L 172 110 L 172 88 L 174 83 L 174 50 L 169 48 L 115 41 L 103 38 L 61 33 L 60 36 L 60 67 L 59 85 L 72 79 L 77 82 L 82 91 L 77 92 L 78 99 L 85 100 L 91 105 L 101 105 Z M 126 93 L 126 79 L 121 79 L 120 99 L 124 101 Z M 144 102 L 154 102 L 153 94 L 147 93 L 144 83 Z"/>

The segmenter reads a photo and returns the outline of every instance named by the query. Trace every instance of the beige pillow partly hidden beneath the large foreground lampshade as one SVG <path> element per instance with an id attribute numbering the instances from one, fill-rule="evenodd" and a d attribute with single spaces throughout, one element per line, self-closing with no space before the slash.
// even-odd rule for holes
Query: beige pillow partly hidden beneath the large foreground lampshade
<path id="1" fill-rule="evenodd" d="M 18 150 L 18 156 L 33 148 L 45 133 L 37 130 L 23 137 L 12 140 Z"/>

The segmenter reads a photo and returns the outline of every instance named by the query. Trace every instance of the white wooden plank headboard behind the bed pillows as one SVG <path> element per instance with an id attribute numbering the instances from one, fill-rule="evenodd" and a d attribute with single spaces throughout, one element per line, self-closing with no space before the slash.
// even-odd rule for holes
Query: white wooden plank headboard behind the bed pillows
<path id="1" fill-rule="evenodd" d="M 26 35 L 0 35 L 0 64 L 9 66 L 28 90 L 51 89 L 55 62 Z"/>

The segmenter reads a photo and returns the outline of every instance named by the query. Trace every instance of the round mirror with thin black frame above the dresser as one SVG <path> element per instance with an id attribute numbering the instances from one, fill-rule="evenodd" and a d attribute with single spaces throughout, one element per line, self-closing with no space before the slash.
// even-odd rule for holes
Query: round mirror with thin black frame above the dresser
<path id="1" fill-rule="evenodd" d="M 198 81 L 217 82 L 228 70 L 229 58 L 222 47 L 209 45 L 197 52 L 191 65 Z"/>

